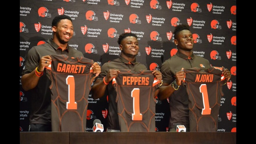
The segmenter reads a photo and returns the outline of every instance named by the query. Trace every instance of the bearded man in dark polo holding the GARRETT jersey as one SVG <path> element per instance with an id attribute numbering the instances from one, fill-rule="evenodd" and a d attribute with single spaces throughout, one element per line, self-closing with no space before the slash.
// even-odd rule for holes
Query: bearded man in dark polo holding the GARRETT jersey
<path id="1" fill-rule="evenodd" d="M 24 70 L 22 71 L 22 88 L 31 91 L 30 132 L 51 131 L 51 81 L 45 73 L 45 66 L 49 66 L 49 55 L 68 55 L 69 57 L 83 56 L 83 53 L 68 45 L 73 36 L 72 19 L 66 15 L 56 16 L 52 21 L 53 39 L 46 44 L 34 46 L 26 55 Z M 100 66 L 93 64 L 93 73 L 100 73 Z M 93 78 L 93 80 L 95 79 Z"/>

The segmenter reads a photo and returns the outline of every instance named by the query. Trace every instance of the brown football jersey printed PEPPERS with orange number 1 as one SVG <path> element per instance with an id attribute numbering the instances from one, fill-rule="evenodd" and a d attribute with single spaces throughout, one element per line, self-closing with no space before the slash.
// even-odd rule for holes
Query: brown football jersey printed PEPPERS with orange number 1
<path id="1" fill-rule="evenodd" d="M 154 92 L 159 81 L 152 72 L 120 69 L 113 78 L 121 132 L 155 132 Z"/>

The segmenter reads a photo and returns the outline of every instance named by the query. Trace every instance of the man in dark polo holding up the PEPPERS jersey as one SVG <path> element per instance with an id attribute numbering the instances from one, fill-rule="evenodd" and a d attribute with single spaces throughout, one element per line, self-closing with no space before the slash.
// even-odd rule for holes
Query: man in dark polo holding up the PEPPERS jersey
<path id="1" fill-rule="evenodd" d="M 93 98 L 101 98 L 106 91 L 109 97 L 109 114 L 108 114 L 108 132 L 120 132 L 117 103 L 115 102 L 116 92 L 112 86 L 112 78 L 117 76 L 120 72 L 118 69 L 131 69 L 138 71 L 141 69 L 147 69 L 143 64 L 136 62 L 136 55 L 139 51 L 139 43 L 137 36 L 133 33 L 123 33 L 118 38 L 119 48 L 121 55 L 118 59 L 106 62 L 101 68 L 99 78 L 96 80 L 92 87 Z M 162 75 L 160 71 L 153 71 L 154 76 L 161 82 Z M 158 93 L 157 90 L 155 93 Z"/>

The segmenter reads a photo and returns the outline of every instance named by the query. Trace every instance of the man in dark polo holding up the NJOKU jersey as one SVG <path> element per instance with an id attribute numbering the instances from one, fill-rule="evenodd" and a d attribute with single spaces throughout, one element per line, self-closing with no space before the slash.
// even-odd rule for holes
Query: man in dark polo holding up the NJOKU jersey
<path id="1" fill-rule="evenodd" d="M 176 26 L 173 33 L 178 52 L 161 66 L 163 85 L 160 87 L 158 98 L 160 100 L 169 98 L 171 111 L 169 130 L 175 131 L 175 124 L 180 123 L 186 127 L 186 131 L 189 131 L 189 101 L 186 87 L 180 86 L 185 75 L 181 70 L 192 67 L 208 69 L 210 63 L 205 58 L 193 54 L 193 36 L 188 25 Z M 228 69 L 225 69 L 223 74 L 227 81 L 231 78 Z"/>

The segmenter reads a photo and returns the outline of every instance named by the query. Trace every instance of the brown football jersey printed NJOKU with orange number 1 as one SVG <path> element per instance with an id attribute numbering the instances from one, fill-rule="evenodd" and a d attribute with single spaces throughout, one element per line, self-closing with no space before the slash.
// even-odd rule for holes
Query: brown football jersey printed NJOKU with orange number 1
<path id="1" fill-rule="evenodd" d="M 224 95 L 223 71 L 223 67 L 215 66 L 209 69 L 184 69 L 184 83 L 189 96 L 190 132 L 217 132 L 220 100 Z"/>

